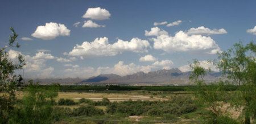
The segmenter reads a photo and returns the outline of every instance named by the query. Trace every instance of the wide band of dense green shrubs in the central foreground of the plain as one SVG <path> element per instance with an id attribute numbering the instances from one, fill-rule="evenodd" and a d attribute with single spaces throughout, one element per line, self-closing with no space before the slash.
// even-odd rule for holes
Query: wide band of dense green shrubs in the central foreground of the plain
<path id="1" fill-rule="evenodd" d="M 182 100 L 181 100 L 182 99 Z M 180 115 L 191 113 L 197 108 L 190 97 L 173 97 L 171 101 L 123 101 L 113 102 L 107 106 L 106 113 L 124 113 L 128 115 L 151 115 L 161 117 L 163 114 Z"/>

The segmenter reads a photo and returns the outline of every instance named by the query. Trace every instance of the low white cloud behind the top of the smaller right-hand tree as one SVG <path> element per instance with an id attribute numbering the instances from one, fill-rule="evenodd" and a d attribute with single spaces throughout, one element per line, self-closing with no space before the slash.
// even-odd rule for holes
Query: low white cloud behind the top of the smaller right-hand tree
<path id="1" fill-rule="evenodd" d="M 211 63 L 208 63 L 208 61 L 204 60 L 204 61 L 199 61 L 200 63 L 200 67 L 203 67 L 205 69 L 210 68 L 212 71 L 218 72 L 218 69 L 216 68 L 216 66 L 214 66 Z M 182 72 L 188 72 L 191 71 L 191 68 L 189 67 L 189 64 L 187 65 L 183 65 L 181 67 L 179 67 L 180 71 Z"/>

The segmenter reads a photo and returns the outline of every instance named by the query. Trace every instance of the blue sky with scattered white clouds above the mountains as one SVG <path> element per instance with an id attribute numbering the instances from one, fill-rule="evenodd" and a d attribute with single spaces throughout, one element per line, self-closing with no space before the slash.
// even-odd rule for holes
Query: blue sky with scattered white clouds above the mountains
<path id="1" fill-rule="evenodd" d="M 1 1 L 0 46 L 10 27 L 26 78 L 88 78 L 179 68 L 256 40 L 256 1 Z M 17 72 L 18 73 L 18 72 Z"/>

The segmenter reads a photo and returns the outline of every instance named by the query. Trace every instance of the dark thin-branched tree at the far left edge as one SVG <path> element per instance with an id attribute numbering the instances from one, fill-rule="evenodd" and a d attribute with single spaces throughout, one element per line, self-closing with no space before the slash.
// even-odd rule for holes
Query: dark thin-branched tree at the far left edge
<path id="1" fill-rule="evenodd" d="M 9 54 L 6 52 L 7 48 L 19 48 L 16 41 L 18 34 L 11 27 L 10 30 L 13 35 L 10 35 L 9 46 L 0 49 L 0 122 L 7 123 L 10 118 L 10 113 L 14 110 L 16 101 L 15 90 L 17 88 L 17 79 L 22 78 L 20 75 L 16 76 L 15 71 L 22 69 L 25 65 L 22 55 L 18 55 L 17 63 L 9 59 Z M 14 45 L 16 44 L 16 45 Z"/>

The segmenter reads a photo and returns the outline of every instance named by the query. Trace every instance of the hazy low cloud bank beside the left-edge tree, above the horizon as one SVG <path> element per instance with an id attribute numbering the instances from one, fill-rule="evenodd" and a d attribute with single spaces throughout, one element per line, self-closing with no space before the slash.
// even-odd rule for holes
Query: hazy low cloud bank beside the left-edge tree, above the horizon
<path id="1" fill-rule="evenodd" d="M 9 53 L 9 58 L 11 60 L 13 60 L 14 63 L 18 62 L 15 60 L 19 54 L 23 55 L 22 53 L 20 53 L 18 51 L 14 51 L 12 49 L 10 49 L 8 51 L 8 53 Z M 52 72 L 55 69 L 53 67 L 49 67 L 47 65 L 47 61 L 52 60 L 52 59 L 56 59 L 57 61 L 66 61 L 66 59 L 64 59 L 64 58 L 54 57 L 50 53 L 44 53 L 44 52 L 38 52 L 34 56 L 30 56 L 30 55 L 23 55 L 23 56 L 24 56 L 25 63 L 26 63 L 26 65 L 23 68 L 24 72 L 25 72 L 24 76 L 26 78 L 56 78 L 56 76 L 52 74 Z M 81 70 L 81 71 L 72 72 L 72 74 L 74 73 L 73 75 L 71 75 L 71 73 L 68 73 L 67 75 L 65 75 L 63 77 L 71 77 L 71 76 L 77 77 L 77 75 L 79 75 L 79 73 L 81 73 L 81 75 L 79 75 L 79 76 L 82 77 L 82 75 L 85 74 L 84 72 L 82 72 L 84 70 L 79 68 L 79 65 L 64 64 L 64 66 L 72 67 L 73 71 L 76 71 L 76 70 L 78 70 L 78 71 Z M 21 73 L 22 75 L 24 74 L 23 72 L 17 72 L 17 73 Z M 86 74 L 90 75 L 90 73 L 86 73 Z"/>

